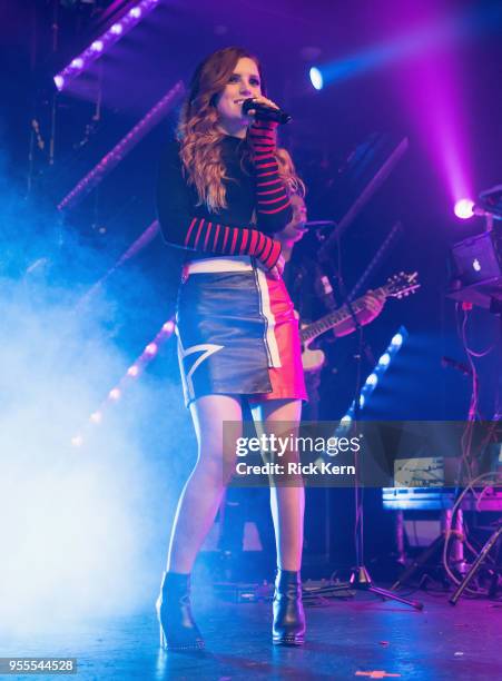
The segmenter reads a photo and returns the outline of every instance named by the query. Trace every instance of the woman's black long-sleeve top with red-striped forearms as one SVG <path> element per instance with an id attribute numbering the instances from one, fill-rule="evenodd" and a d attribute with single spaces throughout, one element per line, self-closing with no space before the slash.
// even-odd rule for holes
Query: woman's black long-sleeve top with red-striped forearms
<path id="1" fill-rule="evenodd" d="M 274 131 L 255 122 L 248 134 L 254 167 L 243 169 L 245 140 L 225 136 L 222 159 L 229 179 L 223 180 L 227 208 L 210 211 L 198 204 L 195 186 L 183 172 L 179 144 L 169 144 L 160 160 L 157 209 L 165 241 L 190 251 L 190 259 L 208 255 L 250 255 L 272 268 L 280 255 L 273 238 L 292 219 L 286 189 L 274 157 Z M 256 215 L 256 225 L 253 224 Z"/>

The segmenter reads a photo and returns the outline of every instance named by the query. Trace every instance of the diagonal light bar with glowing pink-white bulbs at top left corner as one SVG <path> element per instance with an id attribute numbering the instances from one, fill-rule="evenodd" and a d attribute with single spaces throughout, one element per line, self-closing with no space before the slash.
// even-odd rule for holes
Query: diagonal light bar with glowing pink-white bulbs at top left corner
<path id="1" fill-rule="evenodd" d="M 96 59 L 99 59 L 101 55 L 108 51 L 112 45 L 128 33 L 141 19 L 145 19 L 158 3 L 159 0 L 141 0 L 120 21 L 116 21 L 102 36 L 55 76 L 53 80 L 58 90 L 66 89 L 68 83 L 86 71 Z"/>

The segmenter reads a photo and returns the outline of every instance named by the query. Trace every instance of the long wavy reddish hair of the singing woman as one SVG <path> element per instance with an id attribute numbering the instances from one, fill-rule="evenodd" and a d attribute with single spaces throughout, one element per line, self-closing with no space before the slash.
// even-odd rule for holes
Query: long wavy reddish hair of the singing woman
<path id="1" fill-rule="evenodd" d="M 195 70 L 190 81 L 188 97 L 181 108 L 178 122 L 178 139 L 180 140 L 180 158 L 188 181 L 195 185 L 199 205 L 205 204 L 217 213 L 227 207 L 225 165 L 218 144 L 225 134 L 218 126 L 216 109 L 218 95 L 228 83 L 239 59 L 252 59 L 259 72 L 262 92 L 265 93 L 265 81 L 258 59 L 239 47 L 228 47 L 209 55 Z M 244 144 L 245 140 L 243 140 Z M 278 159 L 279 160 L 279 159 Z M 250 167 L 250 150 L 243 155 L 243 168 Z M 301 182 L 294 167 L 288 168 L 279 162 L 280 175 L 291 191 Z"/>

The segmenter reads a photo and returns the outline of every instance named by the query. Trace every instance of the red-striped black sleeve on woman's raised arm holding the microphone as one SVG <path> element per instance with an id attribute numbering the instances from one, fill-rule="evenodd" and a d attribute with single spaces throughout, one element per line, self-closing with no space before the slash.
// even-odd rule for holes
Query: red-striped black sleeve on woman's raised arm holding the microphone
<path id="1" fill-rule="evenodd" d="M 276 122 L 257 120 L 248 131 L 256 172 L 258 226 L 267 233 L 280 231 L 293 217 L 289 197 L 274 156 L 276 127 Z"/>

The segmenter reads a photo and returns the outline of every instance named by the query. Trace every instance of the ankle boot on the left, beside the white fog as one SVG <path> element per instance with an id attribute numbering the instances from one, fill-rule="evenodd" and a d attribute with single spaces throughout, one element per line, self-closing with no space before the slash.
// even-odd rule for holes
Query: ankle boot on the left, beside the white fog
<path id="1" fill-rule="evenodd" d="M 190 575 L 165 572 L 157 600 L 160 645 L 168 650 L 199 650 L 204 639 L 191 616 Z"/>

